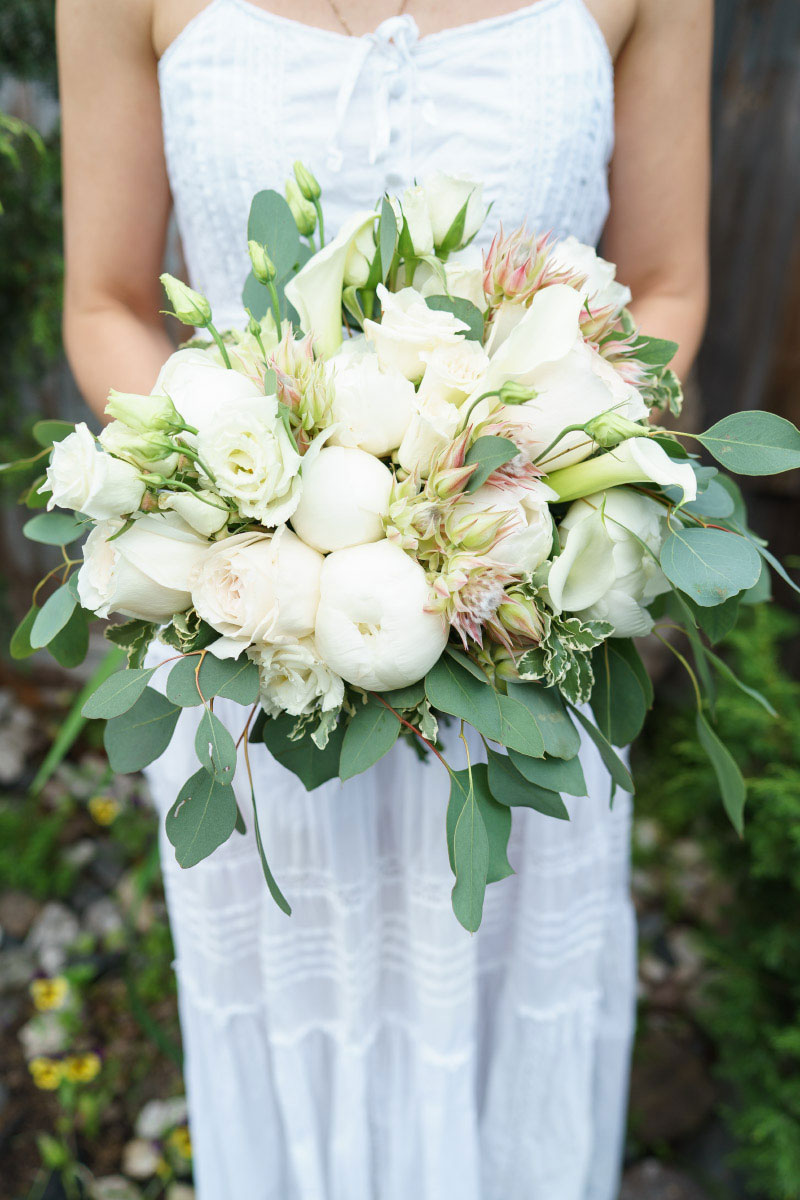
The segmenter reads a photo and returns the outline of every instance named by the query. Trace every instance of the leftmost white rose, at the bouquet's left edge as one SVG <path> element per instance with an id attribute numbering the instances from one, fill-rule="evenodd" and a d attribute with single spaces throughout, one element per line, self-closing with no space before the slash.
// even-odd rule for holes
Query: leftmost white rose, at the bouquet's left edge
<path id="1" fill-rule="evenodd" d="M 53 493 L 48 511 L 58 504 L 60 509 L 85 512 L 92 521 L 134 512 L 145 491 L 136 468 L 98 450 L 83 421 L 53 446 L 47 482 L 40 491 L 48 488 Z"/>

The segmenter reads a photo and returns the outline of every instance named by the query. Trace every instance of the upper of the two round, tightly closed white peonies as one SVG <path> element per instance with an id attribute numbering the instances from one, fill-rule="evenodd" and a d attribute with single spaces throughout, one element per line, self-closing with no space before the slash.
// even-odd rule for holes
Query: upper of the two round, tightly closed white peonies
<path id="1" fill-rule="evenodd" d="M 343 550 L 384 536 L 392 473 L 355 446 L 326 446 L 309 469 L 291 524 L 317 550 Z"/>

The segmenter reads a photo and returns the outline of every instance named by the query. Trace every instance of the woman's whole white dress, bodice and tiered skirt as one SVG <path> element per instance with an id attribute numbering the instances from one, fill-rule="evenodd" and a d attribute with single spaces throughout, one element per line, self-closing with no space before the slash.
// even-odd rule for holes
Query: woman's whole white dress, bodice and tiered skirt
<path id="1" fill-rule="evenodd" d="M 251 198 L 282 188 L 295 158 L 321 181 L 331 232 L 441 168 L 486 181 L 489 224 L 601 233 L 613 68 L 582 0 L 427 37 L 392 18 L 360 38 L 213 0 L 160 77 L 191 280 L 219 325 L 242 320 Z M 196 719 L 148 772 L 162 812 L 197 769 Z M 630 799 L 609 809 L 594 749 L 569 823 L 515 810 L 516 874 L 489 887 L 473 936 L 451 911 L 435 760 L 398 744 L 311 793 L 264 748 L 252 761 L 290 918 L 252 820 L 191 870 L 163 846 L 199 1200 L 614 1200 Z M 245 778 L 237 791 L 247 816 Z"/>

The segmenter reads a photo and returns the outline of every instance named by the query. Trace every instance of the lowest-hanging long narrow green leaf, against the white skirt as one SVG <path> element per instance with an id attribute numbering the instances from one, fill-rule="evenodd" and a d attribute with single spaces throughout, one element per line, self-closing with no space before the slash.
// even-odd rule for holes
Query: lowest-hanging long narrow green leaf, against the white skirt
<path id="1" fill-rule="evenodd" d="M 480 770 L 479 768 L 483 768 Z M 450 776 L 447 828 L 452 828 L 453 912 L 464 929 L 474 934 L 483 914 L 483 895 L 489 874 L 489 835 L 476 799 L 476 790 L 488 793 L 486 766 L 476 763 L 470 772 L 456 770 Z M 451 812 L 452 809 L 452 812 Z"/>

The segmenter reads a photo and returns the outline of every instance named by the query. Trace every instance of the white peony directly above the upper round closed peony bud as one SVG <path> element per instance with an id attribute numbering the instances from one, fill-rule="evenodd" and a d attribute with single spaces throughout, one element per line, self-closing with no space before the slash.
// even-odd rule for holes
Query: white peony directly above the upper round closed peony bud
<path id="1" fill-rule="evenodd" d="M 335 354 L 327 362 L 333 379 L 333 445 L 357 446 L 383 457 L 397 450 L 414 413 L 414 384 L 381 371 L 374 353 Z"/>

